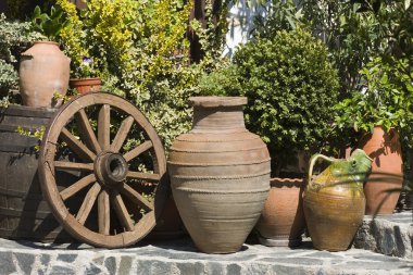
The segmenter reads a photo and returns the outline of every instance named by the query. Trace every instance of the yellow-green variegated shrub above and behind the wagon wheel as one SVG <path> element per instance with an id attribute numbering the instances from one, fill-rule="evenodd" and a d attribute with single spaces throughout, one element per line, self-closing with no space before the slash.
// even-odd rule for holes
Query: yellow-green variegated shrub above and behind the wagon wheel
<path id="1" fill-rule="evenodd" d="M 82 13 L 68 1 L 57 4 L 70 21 L 60 42 L 72 59 L 72 76 L 80 76 L 84 57 L 90 58 L 103 89 L 135 103 L 166 148 L 190 128 L 187 99 L 198 92 L 198 78 L 220 65 L 226 29 L 225 16 L 217 25 L 212 22 L 211 1 L 206 26 L 190 23 L 205 55 L 198 64 L 190 64 L 186 38 L 192 1 L 89 0 Z"/>

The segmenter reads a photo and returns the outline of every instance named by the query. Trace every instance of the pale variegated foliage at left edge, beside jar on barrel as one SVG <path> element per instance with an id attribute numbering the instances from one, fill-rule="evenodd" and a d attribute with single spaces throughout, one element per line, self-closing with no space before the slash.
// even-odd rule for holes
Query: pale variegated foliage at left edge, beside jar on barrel
<path id="1" fill-rule="evenodd" d="M 40 38 L 41 35 L 33 30 L 30 23 L 10 22 L 4 14 L 0 14 L 0 95 L 2 97 L 17 89 L 20 52 L 29 42 Z M 9 100 L 16 101 L 11 95 Z"/>

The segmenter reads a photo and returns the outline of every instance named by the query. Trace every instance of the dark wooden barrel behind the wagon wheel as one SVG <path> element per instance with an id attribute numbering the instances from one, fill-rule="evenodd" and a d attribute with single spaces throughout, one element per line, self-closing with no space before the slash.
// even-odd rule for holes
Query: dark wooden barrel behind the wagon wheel
<path id="1" fill-rule="evenodd" d="M 42 242 L 70 241 L 42 199 L 37 175 L 39 139 L 16 132 L 47 125 L 55 109 L 0 109 L 0 237 Z"/>

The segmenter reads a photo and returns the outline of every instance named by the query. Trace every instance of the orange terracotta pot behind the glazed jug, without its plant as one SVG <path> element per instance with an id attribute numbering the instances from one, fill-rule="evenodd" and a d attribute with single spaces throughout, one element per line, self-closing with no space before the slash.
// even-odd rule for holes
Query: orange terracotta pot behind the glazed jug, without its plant
<path id="1" fill-rule="evenodd" d="M 398 202 L 403 184 L 403 161 L 399 134 L 396 129 L 385 133 L 381 126 L 374 127 L 360 142 L 373 159 L 372 173 L 364 185 L 365 214 L 391 214 Z"/>

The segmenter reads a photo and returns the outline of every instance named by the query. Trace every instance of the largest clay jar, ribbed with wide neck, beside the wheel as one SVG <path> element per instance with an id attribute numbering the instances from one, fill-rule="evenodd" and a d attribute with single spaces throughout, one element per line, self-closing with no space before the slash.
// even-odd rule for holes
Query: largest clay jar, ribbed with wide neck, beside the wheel
<path id="1" fill-rule="evenodd" d="M 170 151 L 173 196 L 185 227 L 206 253 L 240 250 L 270 189 L 270 154 L 243 123 L 243 97 L 195 97 L 193 125 Z"/>

